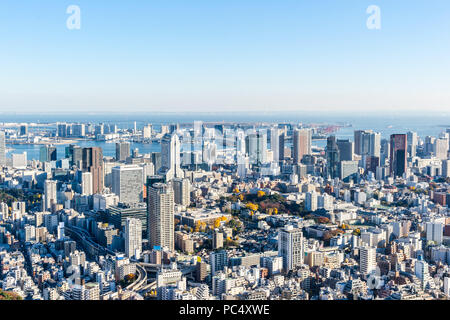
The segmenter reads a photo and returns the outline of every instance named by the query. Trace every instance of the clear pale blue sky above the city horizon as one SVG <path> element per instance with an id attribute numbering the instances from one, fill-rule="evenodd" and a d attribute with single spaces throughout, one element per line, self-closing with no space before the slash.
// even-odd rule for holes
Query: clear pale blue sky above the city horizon
<path id="1" fill-rule="evenodd" d="M 450 1 L 0 1 L 1 112 L 256 110 L 449 111 Z"/>

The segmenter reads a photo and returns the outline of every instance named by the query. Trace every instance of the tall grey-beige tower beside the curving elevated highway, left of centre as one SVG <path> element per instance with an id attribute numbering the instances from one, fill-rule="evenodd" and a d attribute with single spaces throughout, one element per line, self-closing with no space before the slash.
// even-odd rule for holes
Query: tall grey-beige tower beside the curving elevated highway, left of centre
<path id="1" fill-rule="evenodd" d="M 148 237 L 151 247 L 174 250 L 174 194 L 170 184 L 155 183 L 147 197 Z"/>

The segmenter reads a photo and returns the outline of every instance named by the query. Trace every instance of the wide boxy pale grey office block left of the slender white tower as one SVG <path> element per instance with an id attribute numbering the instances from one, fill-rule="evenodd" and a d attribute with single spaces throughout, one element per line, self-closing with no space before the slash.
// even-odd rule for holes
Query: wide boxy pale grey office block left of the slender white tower
<path id="1" fill-rule="evenodd" d="M 125 165 L 112 168 L 112 192 L 123 203 L 138 203 L 143 200 L 143 168 Z"/>

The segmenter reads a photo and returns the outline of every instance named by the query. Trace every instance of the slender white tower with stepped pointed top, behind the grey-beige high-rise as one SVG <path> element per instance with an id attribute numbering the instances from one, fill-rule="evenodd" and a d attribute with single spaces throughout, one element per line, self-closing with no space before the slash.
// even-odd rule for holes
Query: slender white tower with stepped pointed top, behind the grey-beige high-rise
<path id="1" fill-rule="evenodd" d="M 176 133 L 167 133 L 161 139 L 161 168 L 159 174 L 166 177 L 166 181 L 173 178 L 184 178 L 180 161 L 180 139 Z"/>

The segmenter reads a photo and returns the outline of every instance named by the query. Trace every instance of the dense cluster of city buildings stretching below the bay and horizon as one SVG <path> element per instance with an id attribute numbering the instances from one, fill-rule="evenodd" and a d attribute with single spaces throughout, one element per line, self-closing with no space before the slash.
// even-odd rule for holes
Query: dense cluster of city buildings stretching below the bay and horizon
<path id="1" fill-rule="evenodd" d="M 343 140 L 329 127 L 196 121 L 39 132 L 0 130 L 0 289 L 23 299 L 450 297 L 450 130 Z M 39 159 L 6 156 L 38 135 L 49 141 Z M 57 143 L 78 138 L 93 146 L 58 157 Z M 95 146 L 105 140 L 114 156 Z M 159 152 L 131 150 L 155 141 Z"/>

